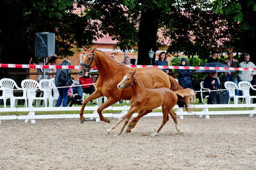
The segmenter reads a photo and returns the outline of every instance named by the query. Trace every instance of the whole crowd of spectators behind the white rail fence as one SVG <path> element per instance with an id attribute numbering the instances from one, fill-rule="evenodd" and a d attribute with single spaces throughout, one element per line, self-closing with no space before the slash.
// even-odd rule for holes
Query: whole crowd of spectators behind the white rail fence
<path id="1" fill-rule="evenodd" d="M 160 52 L 158 55 L 158 60 L 155 61 L 155 65 L 161 66 L 168 66 L 166 52 Z M 219 63 L 218 52 L 212 51 L 210 58 L 208 59 L 207 63 Z M 53 57 L 50 58 L 47 65 L 58 65 L 58 58 Z M 126 56 L 124 61 L 121 62 L 122 65 L 132 65 L 130 63 L 130 57 Z M 255 68 L 256 66 L 250 61 L 250 54 L 244 55 L 244 61 L 239 63 L 237 59 L 234 58 L 234 54 L 232 51 L 228 52 L 228 58 L 225 60 L 225 64 L 230 67 L 241 67 L 241 68 Z M 65 59 L 62 61 L 60 65 L 71 65 L 71 61 L 69 59 Z M 189 66 L 189 63 L 186 58 L 182 58 L 180 61 L 180 66 Z M 162 68 L 162 71 L 169 73 L 169 69 Z M 42 69 L 38 69 L 38 72 L 42 72 Z M 64 87 L 64 86 L 73 86 L 67 88 L 58 88 L 59 97 L 56 102 L 56 107 L 62 106 L 72 106 L 73 104 L 82 104 L 81 101 L 83 100 L 83 93 L 92 94 L 95 91 L 95 87 L 93 85 L 92 77 L 89 75 L 88 72 L 85 72 L 83 76 L 79 78 L 79 80 L 74 80 L 71 77 L 71 70 L 70 69 L 47 69 L 47 73 L 56 72 L 55 74 L 50 74 L 45 77 L 45 79 L 55 79 L 55 86 L 56 87 Z M 180 86 L 183 88 L 191 88 L 194 89 L 193 79 L 191 77 L 191 70 L 176 70 L 178 73 L 178 82 Z M 225 75 L 225 81 L 232 81 L 238 85 L 239 81 L 248 81 L 251 82 L 253 80 L 253 75 L 256 72 L 246 70 L 246 71 L 234 71 L 234 72 L 227 72 Z M 42 75 L 38 75 L 38 81 L 42 79 Z M 209 72 L 208 76 L 204 79 L 204 87 L 213 89 L 222 89 L 221 83 L 219 81 L 218 73 Z M 76 86 L 76 85 L 84 86 Z M 40 94 L 39 94 L 40 95 Z M 221 104 L 220 95 L 223 93 L 219 91 L 213 91 L 209 94 L 208 104 Z M 229 98 L 228 91 L 225 92 L 226 98 Z M 235 90 L 235 95 L 239 95 L 239 91 Z M 93 101 L 90 101 L 90 104 L 95 104 Z"/>

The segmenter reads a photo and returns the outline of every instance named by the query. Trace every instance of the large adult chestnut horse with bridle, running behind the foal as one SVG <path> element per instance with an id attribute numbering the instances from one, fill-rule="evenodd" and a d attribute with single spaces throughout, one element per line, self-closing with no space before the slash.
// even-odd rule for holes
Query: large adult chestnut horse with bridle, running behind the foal
<path id="1" fill-rule="evenodd" d="M 101 112 L 103 109 L 115 104 L 115 102 L 119 100 L 130 100 L 132 98 L 132 88 L 117 89 L 117 84 L 122 81 L 124 75 L 128 73 L 129 68 L 128 66 L 117 63 L 105 52 L 96 50 L 95 48 L 89 50 L 85 49 L 78 74 L 83 75 L 85 71 L 89 71 L 90 68 L 94 66 L 97 67 L 99 72 L 99 77 L 96 82 L 96 91 L 83 101 L 80 110 L 80 122 L 83 123 L 83 121 L 85 121 L 83 111 L 87 102 L 105 96 L 108 100 L 98 107 L 97 112 L 101 121 L 110 123 L 110 121 L 102 115 Z M 183 89 L 173 77 L 158 68 L 146 67 L 136 68 L 136 70 L 136 76 L 139 77 L 146 88 L 166 87 L 173 91 Z M 182 101 L 180 100 L 180 102 Z M 183 103 L 183 105 L 184 104 L 185 103 Z M 148 112 L 149 111 L 144 111 L 144 114 Z"/>

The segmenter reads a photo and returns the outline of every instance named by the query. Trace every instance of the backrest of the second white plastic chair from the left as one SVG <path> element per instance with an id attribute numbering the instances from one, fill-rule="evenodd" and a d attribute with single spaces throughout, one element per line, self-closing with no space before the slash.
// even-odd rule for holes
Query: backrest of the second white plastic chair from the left
<path id="1" fill-rule="evenodd" d="M 26 89 L 27 97 L 35 97 L 36 91 L 38 89 L 38 82 L 31 80 L 31 79 L 25 79 L 21 82 L 22 89 Z"/>

